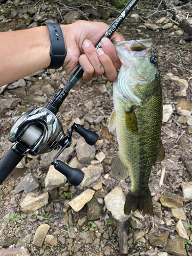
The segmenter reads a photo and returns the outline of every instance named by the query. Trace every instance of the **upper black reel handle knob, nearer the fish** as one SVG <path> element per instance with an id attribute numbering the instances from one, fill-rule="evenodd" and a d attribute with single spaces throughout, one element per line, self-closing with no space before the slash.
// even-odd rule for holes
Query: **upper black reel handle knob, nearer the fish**
<path id="1" fill-rule="evenodd" d="M 95 132 L 88 131 L 87 129 L 85 129 L 80 124 L 76 124 L 74 129 L 91 146 L 93 146 L 99 138 L 98 134 L 96 134 Z"/>

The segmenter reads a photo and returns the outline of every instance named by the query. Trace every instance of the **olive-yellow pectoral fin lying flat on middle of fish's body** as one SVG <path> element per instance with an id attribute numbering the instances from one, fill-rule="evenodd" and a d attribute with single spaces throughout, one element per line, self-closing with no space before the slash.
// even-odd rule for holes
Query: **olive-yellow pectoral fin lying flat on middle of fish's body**
<path id="1" fill-rule="evenodd" d="M 130 108 L 130 110 L 125 110 L 125 122 L 127 130 L 129 130 L 132 134 L 137 134 L 137 117 L 133 108 Z"/>

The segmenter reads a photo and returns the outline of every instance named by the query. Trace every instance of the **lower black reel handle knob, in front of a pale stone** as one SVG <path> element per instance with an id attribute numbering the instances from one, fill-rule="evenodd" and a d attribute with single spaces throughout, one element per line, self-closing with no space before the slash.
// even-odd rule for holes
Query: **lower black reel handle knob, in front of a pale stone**
<path id="1" fill-rule="evenodd" d="M 82 170 L 72 168 L 60 160 L 54 163 L 54 167 L 56 170 L 58 170 L 58 172 L 65 175 L 68 181 L 74 186 L 78 186 L 84 178 L 84 173 Z"/>

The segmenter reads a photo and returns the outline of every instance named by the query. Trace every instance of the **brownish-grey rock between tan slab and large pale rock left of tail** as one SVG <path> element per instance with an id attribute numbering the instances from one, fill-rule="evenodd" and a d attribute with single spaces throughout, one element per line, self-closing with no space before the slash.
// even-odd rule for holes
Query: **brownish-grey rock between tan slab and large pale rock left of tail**
<path id="1" fill-rule="evenodd" d="M 101 210 L 103 209 L 103 204 L 100 204 L 96 198 L 93 198 L 87 203 L 87 217 L 88 220 L 97 220 L 101 217 Z"/>

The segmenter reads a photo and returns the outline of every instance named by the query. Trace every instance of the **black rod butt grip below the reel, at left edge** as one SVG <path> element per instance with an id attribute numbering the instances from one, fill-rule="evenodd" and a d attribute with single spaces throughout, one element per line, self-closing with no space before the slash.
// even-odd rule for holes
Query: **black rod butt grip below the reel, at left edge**
<path id="1" fill-rule="evenodd" d="M 9 149 L 7 154 L 0 161 L 0 185 L 23 158 L 24 155 L 19 154 L 17 151 L 13 150 L 12 147 Z"/>

